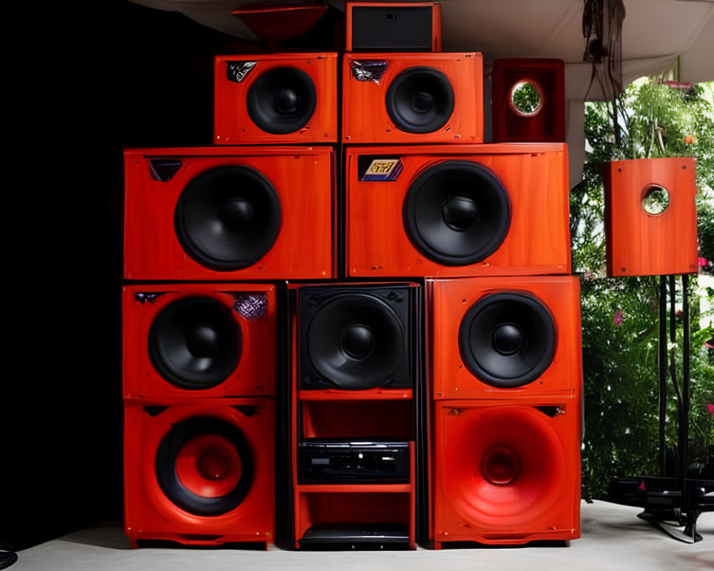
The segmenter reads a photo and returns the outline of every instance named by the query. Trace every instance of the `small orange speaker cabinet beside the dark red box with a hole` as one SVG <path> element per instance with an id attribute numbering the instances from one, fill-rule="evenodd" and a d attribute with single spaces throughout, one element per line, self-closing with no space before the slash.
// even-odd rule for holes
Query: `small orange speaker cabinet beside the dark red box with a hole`
<path id="1" fill-rule="evenodd" d="M 344 143 L 482 143 L 481 54 L 346 54 Z"/>

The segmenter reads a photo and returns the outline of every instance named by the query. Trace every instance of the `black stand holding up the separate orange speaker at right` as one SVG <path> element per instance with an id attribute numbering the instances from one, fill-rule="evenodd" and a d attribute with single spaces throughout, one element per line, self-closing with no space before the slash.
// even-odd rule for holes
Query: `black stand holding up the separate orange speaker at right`
<path id="1" fill-rule="evenodd" d="M 668 286 L 669 282 L 669 288 Z M 689 398 L 690 398 L 690 317 L 689 276 L 682 276 L 683 355 L 682 382 L 677 381 L 675 310 L 675 276 L 660 276 L 659 340 L 659 420 L 660 477 L 616 478 L 611 489 L 612 500 L 644 508 L 641 519 L 677 540 L 694 543 L 702 540 L 697 532 L 697 519 L 702 512 L 714 511 L 714 480 L 690 480 L 689 472 Z M 668 291 L 669 289 L 669 291 Z M 668 295 L 669 294 L 669 295 Z M 669 299 L 668 299 L 669 298 Z M 669 300 L 669 338 L 667 337 L 667 301 Z M 669 358 L 668 358 L 669 350 Z M 677 398 L 678 463 L 675 477 L 667 477 L 665 416 L 667 412 L 668 375 Z M 680 529 L 681 528 L 681 529 Z"/>

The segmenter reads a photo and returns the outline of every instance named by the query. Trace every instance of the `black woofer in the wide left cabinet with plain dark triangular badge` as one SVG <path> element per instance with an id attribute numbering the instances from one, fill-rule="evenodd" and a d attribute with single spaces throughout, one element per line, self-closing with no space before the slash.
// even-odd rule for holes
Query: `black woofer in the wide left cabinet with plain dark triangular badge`
<path id="1" fill-rule="evenodd" d="M 280 231 L 278 194 L 247 166 L 218 166 L 186 185 L 174 226 L 183 249 L 201 266 L 235 271 L 270 251 Z"/>

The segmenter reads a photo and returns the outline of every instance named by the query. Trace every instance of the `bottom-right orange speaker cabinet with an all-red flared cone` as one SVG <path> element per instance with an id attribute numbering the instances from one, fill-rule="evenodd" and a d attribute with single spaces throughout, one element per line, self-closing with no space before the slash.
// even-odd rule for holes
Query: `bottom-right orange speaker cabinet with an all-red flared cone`
<path id="1" fill-rule="evenodd" d="M 580 537 L 580 400 L 435 405 L 437 549 Z"/>

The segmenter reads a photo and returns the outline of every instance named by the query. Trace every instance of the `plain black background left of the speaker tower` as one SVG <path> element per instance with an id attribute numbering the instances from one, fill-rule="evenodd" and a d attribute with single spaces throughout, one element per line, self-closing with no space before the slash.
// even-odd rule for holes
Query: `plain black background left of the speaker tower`
<path id="1" fill-rule="evenodd" d="M 126 0 L 10 14 L 0 540 L 122 517 L 122 147 L 211 144 L 233 39 Z M 8 311 L 9 309 L 9 311 Z M 14 363 L 14 365 L 13 365 Z"/>

